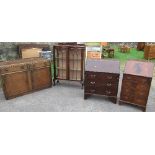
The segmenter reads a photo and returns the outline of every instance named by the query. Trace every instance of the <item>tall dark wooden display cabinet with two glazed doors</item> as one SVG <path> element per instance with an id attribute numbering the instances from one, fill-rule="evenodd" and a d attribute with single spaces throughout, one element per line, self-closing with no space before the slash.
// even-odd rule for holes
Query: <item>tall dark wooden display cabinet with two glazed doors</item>
<path id="1" fill-rule="evenodd" d="M 83 86 L 85 60 L 84 45 L 55 45 L 53 47 L 55 81 L 80 81 Z"/>

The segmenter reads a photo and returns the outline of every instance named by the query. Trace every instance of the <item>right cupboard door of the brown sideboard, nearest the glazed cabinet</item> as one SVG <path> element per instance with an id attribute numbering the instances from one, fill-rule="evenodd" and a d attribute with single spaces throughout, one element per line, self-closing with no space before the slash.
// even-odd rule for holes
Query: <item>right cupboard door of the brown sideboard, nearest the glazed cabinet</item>
<path id="1" fill-rule="evenodd" d="M 52 86 L 52 77 L 50 67 L 37 68 L 32 70 L 32 88 L 33 90 L 40 90 Z"/>

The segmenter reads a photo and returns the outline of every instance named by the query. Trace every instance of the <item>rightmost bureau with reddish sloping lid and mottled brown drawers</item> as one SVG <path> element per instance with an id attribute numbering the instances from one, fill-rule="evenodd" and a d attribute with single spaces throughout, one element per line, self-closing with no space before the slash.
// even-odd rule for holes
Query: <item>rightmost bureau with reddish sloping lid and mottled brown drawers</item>
<path id="1" fill-rule="evenodd" d="M 128 103 L 146 110 L 154 64 L 130 60 L 123 74 L 120 104 Z"/>

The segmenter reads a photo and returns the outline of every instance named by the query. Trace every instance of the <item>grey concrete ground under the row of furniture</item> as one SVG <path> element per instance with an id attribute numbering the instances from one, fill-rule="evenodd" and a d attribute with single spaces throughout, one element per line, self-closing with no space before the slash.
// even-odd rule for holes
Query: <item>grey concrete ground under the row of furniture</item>
<path id="1" fill-rule="evenodd" d="M 121 80 L 120 80 L 121 81 Z M 120 83 L 121 85 L 121 83 Z M 119 87 L 120 88 L 120 87 Z M 81 85 L 63 81 L 60 84 L 38 92 L 5 100 L 0 90 L 0 111 L 2 112 L 141 112 L 131 105 L 113 104 L 105 97 L 91 96 L 83 99 Z M 119 91 L 120 92 L 120 91 Z M 119 94 L 118 94 L 119 96 Z M 155 80 L 152 81 L 146 111 L 155 111 Z"/>

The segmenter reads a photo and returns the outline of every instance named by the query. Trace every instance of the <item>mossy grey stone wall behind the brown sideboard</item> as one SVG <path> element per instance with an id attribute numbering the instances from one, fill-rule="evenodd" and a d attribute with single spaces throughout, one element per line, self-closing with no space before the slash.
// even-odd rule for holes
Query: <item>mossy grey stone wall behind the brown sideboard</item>
<path id="1" fill-rule="evenodd" d="M 52 48 L 54 42 L 0 42 L 0 60 L 13 60 L 18 58 L 18 45 L 19 44 L 49 44 Z"/>

